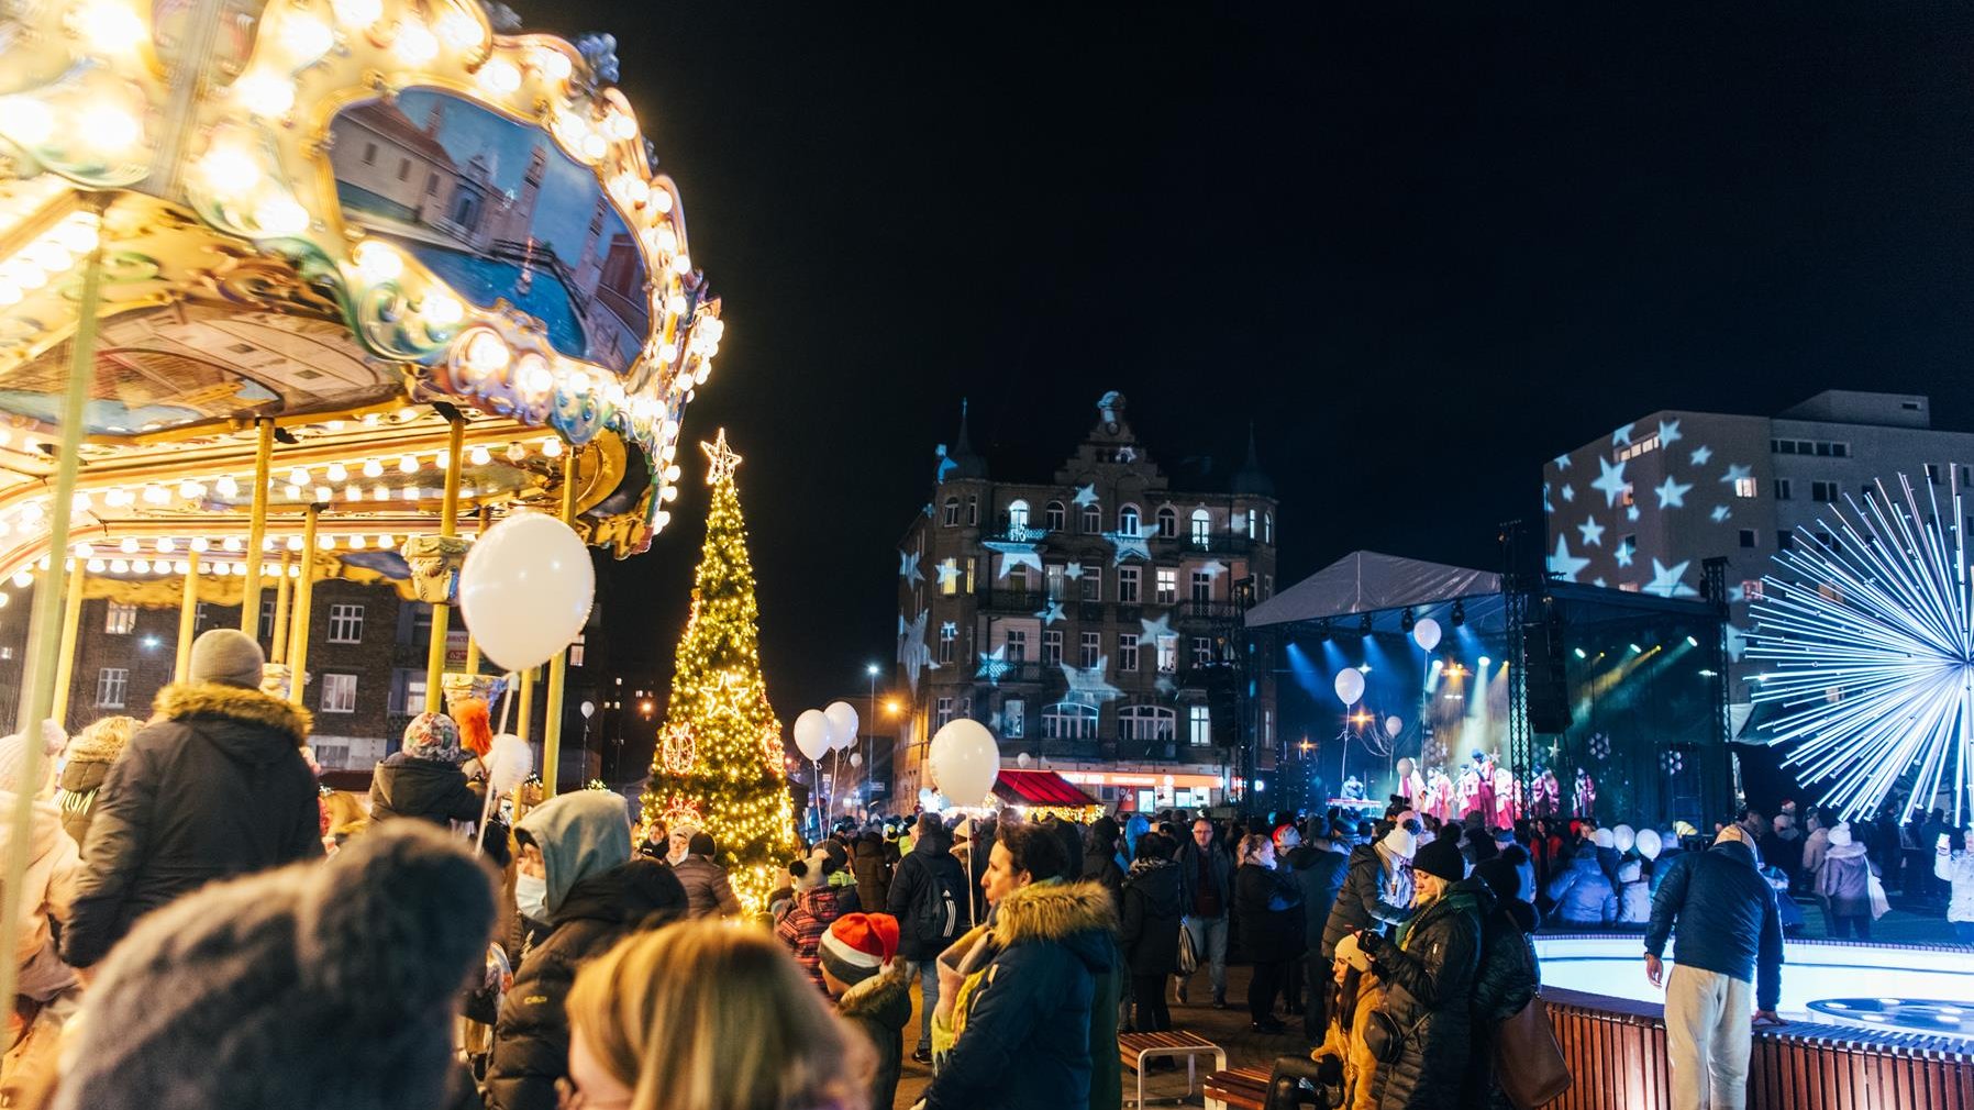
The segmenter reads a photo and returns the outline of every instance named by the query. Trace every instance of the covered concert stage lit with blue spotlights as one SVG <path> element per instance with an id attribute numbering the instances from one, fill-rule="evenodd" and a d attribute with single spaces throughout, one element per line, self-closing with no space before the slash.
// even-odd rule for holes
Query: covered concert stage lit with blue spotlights
<path id="1" fill-rule="evenodd" d="M 1257 604 L 1248 628 L 1285 677 L 1271 784 L 1285 804 L 1319 808 L 1356 780 L 1378 808 L 1451 790 L 1441 806 L 1459 818 L 1475 753 L 1504 770 L 1496 814 L 1518 798 L 1538 816 L 1706 828 L 1733 804 L 1725 618 L 1709 600 L 1557 581 L 1512 593 L 1494 573 L 1358 551 Z"/>

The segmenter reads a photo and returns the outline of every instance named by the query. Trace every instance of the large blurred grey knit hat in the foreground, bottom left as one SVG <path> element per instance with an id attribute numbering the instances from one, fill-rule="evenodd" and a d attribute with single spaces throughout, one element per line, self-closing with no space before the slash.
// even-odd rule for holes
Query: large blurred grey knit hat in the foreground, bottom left
<path id="1" fill-rule="evenodd" d="M 101 964 L 55 1110 L 452 1106 L 454 995 L 492 928 L 492 873 L 424 822 L 205 887 Z"/>

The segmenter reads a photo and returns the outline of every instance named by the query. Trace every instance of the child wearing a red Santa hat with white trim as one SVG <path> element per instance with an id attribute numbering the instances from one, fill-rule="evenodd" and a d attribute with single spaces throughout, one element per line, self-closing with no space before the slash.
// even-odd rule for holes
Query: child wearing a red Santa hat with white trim
<path id="1" fill-rule="evenodd" d="M 912 1021 L 912 968 L 898 960 L 898 918 L 853 912 L 823 934 L 823 988 L 837 999 L 837 1015 L 855 1025 L 876 1049 L 871 1106 L 898 1100 L 904 1027 Z"/>

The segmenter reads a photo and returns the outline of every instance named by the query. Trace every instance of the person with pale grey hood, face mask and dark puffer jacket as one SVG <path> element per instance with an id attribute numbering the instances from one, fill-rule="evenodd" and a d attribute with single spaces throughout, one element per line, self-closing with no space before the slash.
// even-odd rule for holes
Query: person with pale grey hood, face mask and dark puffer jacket
<path id="1" fill-rule="evenodd" d="M 565 1003 L 578 970 L 626 934 L 683 916 L 685 889 L 661 863 L 632 857 L 624 800 L 604 790 L 543 802 L 513 837 L 517 909 L 547 932 L 521 952 L 494 1023 L 486 1106 L 555 1110 L 555 1084 L 569 1074 Z"/>

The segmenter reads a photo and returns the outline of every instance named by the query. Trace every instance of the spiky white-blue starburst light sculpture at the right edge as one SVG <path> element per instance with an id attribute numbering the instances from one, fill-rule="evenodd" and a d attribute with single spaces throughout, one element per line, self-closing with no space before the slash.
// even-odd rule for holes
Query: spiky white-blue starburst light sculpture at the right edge
<path id="1" fill-rule="evenodd" d="M 1751 606 L 1747 656 L 1771 664 L 1753 699 L 1781 709 L 1769 743 L 1828 784 L 1826 806 L 1869 816 L 1909 786 L 1901 818 L 1952 794 L 1958 828 L 1974 794 L 1966 510 L 1952 478 L 1944 504 L 1931 484 L 1921 504 L 1903 474 L 1897 488 L 1846 498 L 1850 514 L 1775 555 Z"/>

